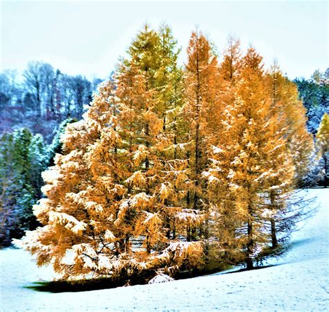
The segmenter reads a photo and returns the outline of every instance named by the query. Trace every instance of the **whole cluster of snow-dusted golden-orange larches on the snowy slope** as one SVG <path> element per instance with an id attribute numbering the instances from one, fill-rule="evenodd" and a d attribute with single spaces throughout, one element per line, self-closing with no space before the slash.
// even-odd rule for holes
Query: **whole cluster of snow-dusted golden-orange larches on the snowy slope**
<path id="1" fill-rule="evenodd" d="M 232 37 L 218 64 L 192 33 L 184 69 L 176 44 L 169 26 L 145 25 L 56 140 L 42 227 L 22 240 L 38 265 L 135 283 L 285 251 L 313 148 L 296 87 Z"/>

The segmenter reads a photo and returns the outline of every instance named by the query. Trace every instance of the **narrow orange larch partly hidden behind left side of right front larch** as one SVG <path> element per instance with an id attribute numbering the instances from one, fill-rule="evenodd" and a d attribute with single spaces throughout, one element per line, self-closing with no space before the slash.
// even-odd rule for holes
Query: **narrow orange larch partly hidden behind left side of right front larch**
<path id="1" fill-rule="evenodd" d="M 218 146 L 226 146 L 226 157 L 235 153 L 235 148 L 228 145 L 228 133 L 230 133 L 230 112 L 233 110 L 233 103 L 236 98 L 236 85 L 239 82 L 240 69 L 242 65 L 242 53 L 240 51 L 239 40 L 233 36 L 228 37 L 226 49 L 223 51 L 223 60 L 218 67 L 218 83 L 220 92 L 217 98 L 217 131 L 212 134 L 212 141 L 208 146 L 208 162 L 212 171 L 219 164 L 217 163 L 216 151 Z M 233 135 L 234 136 L 234 135 Z M 226 168 L 230 167 L 229 162 L 222 162 Z M 236 230 L 241 225 L 239 215 L 232 209 L 234 194 L 230 192 L 228 184 L 222 184 L 219 177 L 210 175 L 206 168 L 203 177 L 208 180 L 208 197 L 210 199 L 210 243 L 209 258 L 210 266 L 222 267 L 238 263 L 241 254 L 237 250 L 241 249 Z M 214 240 L 214 237 L 218 239 Z"/>

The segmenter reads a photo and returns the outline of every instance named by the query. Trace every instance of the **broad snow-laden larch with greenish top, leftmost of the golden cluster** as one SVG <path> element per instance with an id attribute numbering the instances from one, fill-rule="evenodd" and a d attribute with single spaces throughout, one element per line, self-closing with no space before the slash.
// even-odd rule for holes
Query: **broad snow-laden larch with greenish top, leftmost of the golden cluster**
<path id="1" fill-rule="evenodd" d="M 43 175 L 47 198 L 35 214 L 44 226 L 23 244 L 65 278 L 142 280 L 201 265 L 201 243 L 179 239 L 203 215 L 180 205 L 185 173 L 164 156 L 172 144 L 163 128 L 170 103 L 160 103 L 157 49 L 158 33 L 144 28 L 115 85 L 104 84 L 83 121 L 67 125 L 65 155 Z"/>

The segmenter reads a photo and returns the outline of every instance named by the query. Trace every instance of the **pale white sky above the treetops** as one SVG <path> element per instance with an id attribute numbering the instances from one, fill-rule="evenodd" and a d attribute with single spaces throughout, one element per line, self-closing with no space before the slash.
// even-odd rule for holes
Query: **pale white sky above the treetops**
<path id="1" fill-rule="evenodd" d="M 1 0 L 0 0 L 1 1 Z M 105 78 L 147 21 L 182 46 L 198 26 L 222 51 L 234 34 L 289 78 L 328 67 L 327 1 L 1 1 L 0 70 L 43 60 L 64 73 Z"/>

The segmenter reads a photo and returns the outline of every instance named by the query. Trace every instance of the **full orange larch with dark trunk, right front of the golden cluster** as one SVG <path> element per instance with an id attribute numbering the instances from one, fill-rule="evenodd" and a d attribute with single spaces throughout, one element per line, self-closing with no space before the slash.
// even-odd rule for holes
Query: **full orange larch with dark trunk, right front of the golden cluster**
<path id="1" fill-rule="evenodd" d="M 234 101 L 223 114 L 222 139 L 212 146 L 208 180 L 217 243 L 222 257 L 248 269 L 271 243 L 271 189 L 290 185 L 294 167 L 271 114 L 261 56 L 248 49 L 242 58 Z M 283 205 L 283 204 L 282 204 Z M 241 252 L 242 251 L 242 252 Z M 225 259 L 223 260 L 225 261 Z"/>

